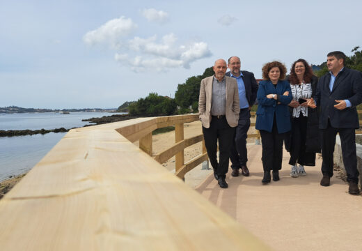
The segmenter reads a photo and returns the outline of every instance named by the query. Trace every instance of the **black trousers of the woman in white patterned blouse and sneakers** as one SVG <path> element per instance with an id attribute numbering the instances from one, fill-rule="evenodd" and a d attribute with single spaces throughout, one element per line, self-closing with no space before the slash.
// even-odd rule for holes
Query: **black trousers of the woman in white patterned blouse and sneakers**
<path id="1" fill-rule="evenodd" d="M 289 165 L 315 163 L 315 153 L 306 152 L 307 123 L 308 117 L 302 114 L 299 114 L 299 118 L 292 118 L 292 146 L 290 146 Z"/>

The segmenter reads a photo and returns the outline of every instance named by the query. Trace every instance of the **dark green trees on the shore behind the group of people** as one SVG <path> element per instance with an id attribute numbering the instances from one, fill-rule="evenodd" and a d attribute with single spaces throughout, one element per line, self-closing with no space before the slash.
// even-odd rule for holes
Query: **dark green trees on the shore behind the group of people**
<path id="1" fill-rule="evenodd" d="M 347 56 L 345 66 L 362 72 L 362 50 L 359 46 L 351 51 L 352 56 Z M 317 66 L 320 70 L 315 70 L 315 75 L 321 77 L 328 72 L 326 62 Z M 206 68 L 203 75 L 192 76 L 186 79 L 183 84 L 178 84 L 175 91 L 175 98 L 159 96 L 157 93 L 150 93 L 145 98 L 139 98 L 134 102 L 127 102 L 120 108 L 128 107 L 130 116 L 170 116 L 174 114 L 186 114 L 198 112 L 198 95 L 200 93 L 200 83 L 205 77 L 214 75 L 212 67 Z"/>

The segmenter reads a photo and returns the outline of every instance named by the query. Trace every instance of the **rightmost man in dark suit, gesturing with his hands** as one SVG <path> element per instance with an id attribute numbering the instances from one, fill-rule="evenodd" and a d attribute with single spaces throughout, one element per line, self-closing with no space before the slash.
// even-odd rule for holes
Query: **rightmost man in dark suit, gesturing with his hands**
<path id="1" fill-rule="evenodd" d="M 349 193 L 359 194 L 359 171 L 356 158 L 356 135 L 359 117 L 356 106 L 362 102 L 362 73 L 345 67 L 343 52 L 327 54 L 329 73 L 323 75 L 317 85 L 315 102 L 310 107 L 320 106 L 320 129 L 322 137 L 322 174 L 320 185 L 329 186 L 333 176 L 333 151 L 337 132 L 340 134 L 343 163 L 349 182 Z"/>

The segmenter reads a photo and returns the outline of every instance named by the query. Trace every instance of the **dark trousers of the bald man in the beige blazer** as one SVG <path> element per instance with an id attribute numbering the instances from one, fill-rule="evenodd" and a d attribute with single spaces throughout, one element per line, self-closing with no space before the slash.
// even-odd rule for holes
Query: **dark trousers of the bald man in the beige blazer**
<path id="1" fill-rule="evenodd" d="M 209 160 L 214 168 L 214 172 L 220 177 L 225 178 L 229 167 L 230 147 L 233 144 L 235 128 L 229 126 L 226 117 L 217 119 L 212 116 L 210 128 L 203 127 L 205 146 Z M 219 139 L 219 163 L 217 162 L 217 140 Z"/>

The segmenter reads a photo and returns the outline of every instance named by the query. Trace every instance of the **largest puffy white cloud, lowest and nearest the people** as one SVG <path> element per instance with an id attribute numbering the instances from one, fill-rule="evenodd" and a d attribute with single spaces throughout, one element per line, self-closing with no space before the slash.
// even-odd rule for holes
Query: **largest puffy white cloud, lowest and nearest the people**
<path id="1" fill-rule="evenodd" d="M 136 56 L 118 54 L 116 61 L 131 66 L 132 70 L 139 72 L 147 68 L 157 71 L 166 71 L 170 68 L 190 68 L 190 63 L 211 56 L 207 43 L 191 43 L 190 45 L 177 45 L 177 38 L 173 33 L 162 37 L 157 43 L 157 36 L 150 38 L 135 37 L 128 42 L 128 49 Z"/>

